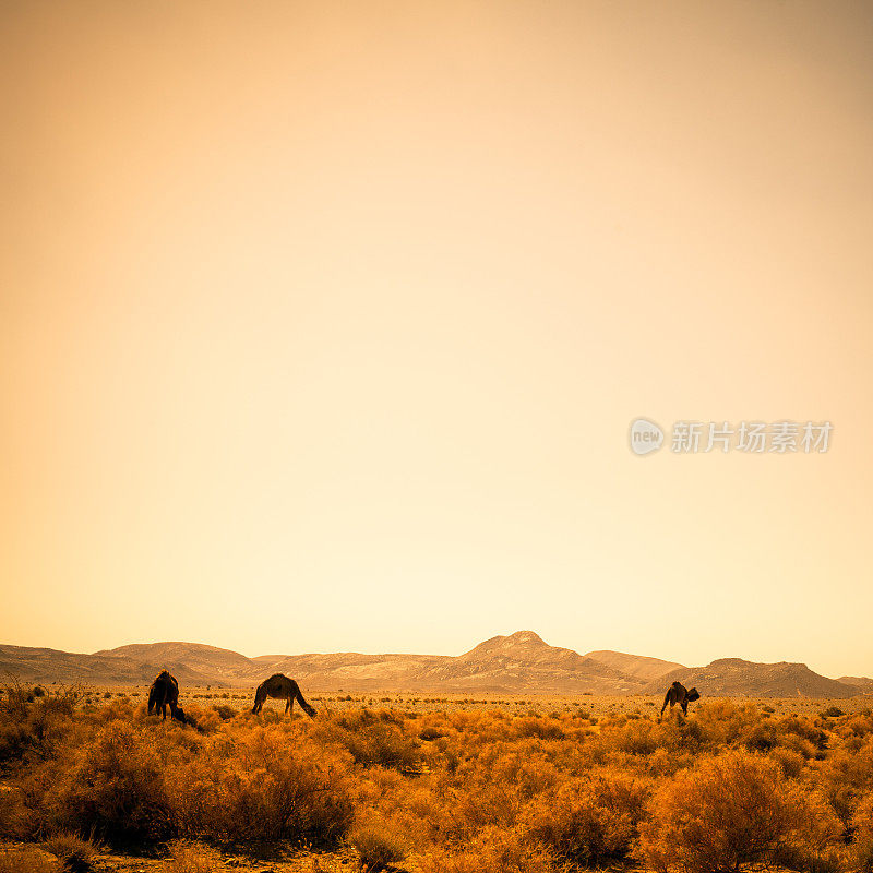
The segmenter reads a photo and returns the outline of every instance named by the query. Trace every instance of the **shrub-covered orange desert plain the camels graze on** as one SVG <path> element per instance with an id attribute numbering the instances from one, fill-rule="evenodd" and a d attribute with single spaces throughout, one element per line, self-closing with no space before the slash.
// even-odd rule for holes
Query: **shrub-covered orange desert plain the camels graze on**
<path id="1" fill-rule="evenodd" d="M 9 684 L 0 873 L 873 870 L 870 697 Z"/>

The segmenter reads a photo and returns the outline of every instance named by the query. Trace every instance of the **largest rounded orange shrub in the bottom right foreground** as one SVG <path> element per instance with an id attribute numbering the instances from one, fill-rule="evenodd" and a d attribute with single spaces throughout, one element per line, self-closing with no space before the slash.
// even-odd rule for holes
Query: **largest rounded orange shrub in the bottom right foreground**
<path id="1" fill-rule="evenodd" d="M 703 758 L 661 786 L 641 826 L 646 861 L 683 873 L 736 873 L 773 862 L 786 845 L 824 850 L 838 832 L 776 762 L 741 751 Z"/>

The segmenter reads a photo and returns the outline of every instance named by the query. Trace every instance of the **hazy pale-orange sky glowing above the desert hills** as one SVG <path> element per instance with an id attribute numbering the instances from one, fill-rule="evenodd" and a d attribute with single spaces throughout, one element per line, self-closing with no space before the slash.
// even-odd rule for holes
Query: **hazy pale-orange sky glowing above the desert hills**
<path id="1" fill-rule="evenodd" d="M 873 675 L 869 3 L 5 0 L 0 100 L 0 642 Z"/>

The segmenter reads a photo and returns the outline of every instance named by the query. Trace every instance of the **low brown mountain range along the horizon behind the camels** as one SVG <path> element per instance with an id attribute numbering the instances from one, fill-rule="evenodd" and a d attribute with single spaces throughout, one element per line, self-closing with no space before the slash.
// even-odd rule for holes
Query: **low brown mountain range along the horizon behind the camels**
<path id="1" fill-rule="evenodd" d="M 587 655 L 550 646 L 533 631 L 494 636 L 450 655 L 262 655 L 200 643 L 146 643 L 93 655 L 0 645 L 0 677 L 26 682 L 147 684 L 162 669 L 183 685 L 250 687 L 283 672 L 316 691 L 493 694 L 661 694 L 673 681 L 708 696 L 852 697 L 873 695 L 864 677 L 827 679 L 803 663 L 721 658 L 706 667 L 621 651 Z"/>

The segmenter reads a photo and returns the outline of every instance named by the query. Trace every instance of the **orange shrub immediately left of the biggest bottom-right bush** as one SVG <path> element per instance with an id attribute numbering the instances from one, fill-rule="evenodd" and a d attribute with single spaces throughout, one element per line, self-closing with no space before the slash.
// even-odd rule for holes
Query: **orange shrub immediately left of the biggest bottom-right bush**
<path id="1" fill-rule="evenodd" d="M 554 856 L 590 866 L 630 852 L 646 798 L 641 782 L 607 772 L 564 781 L 540 796 L 523 822 Z"/>

